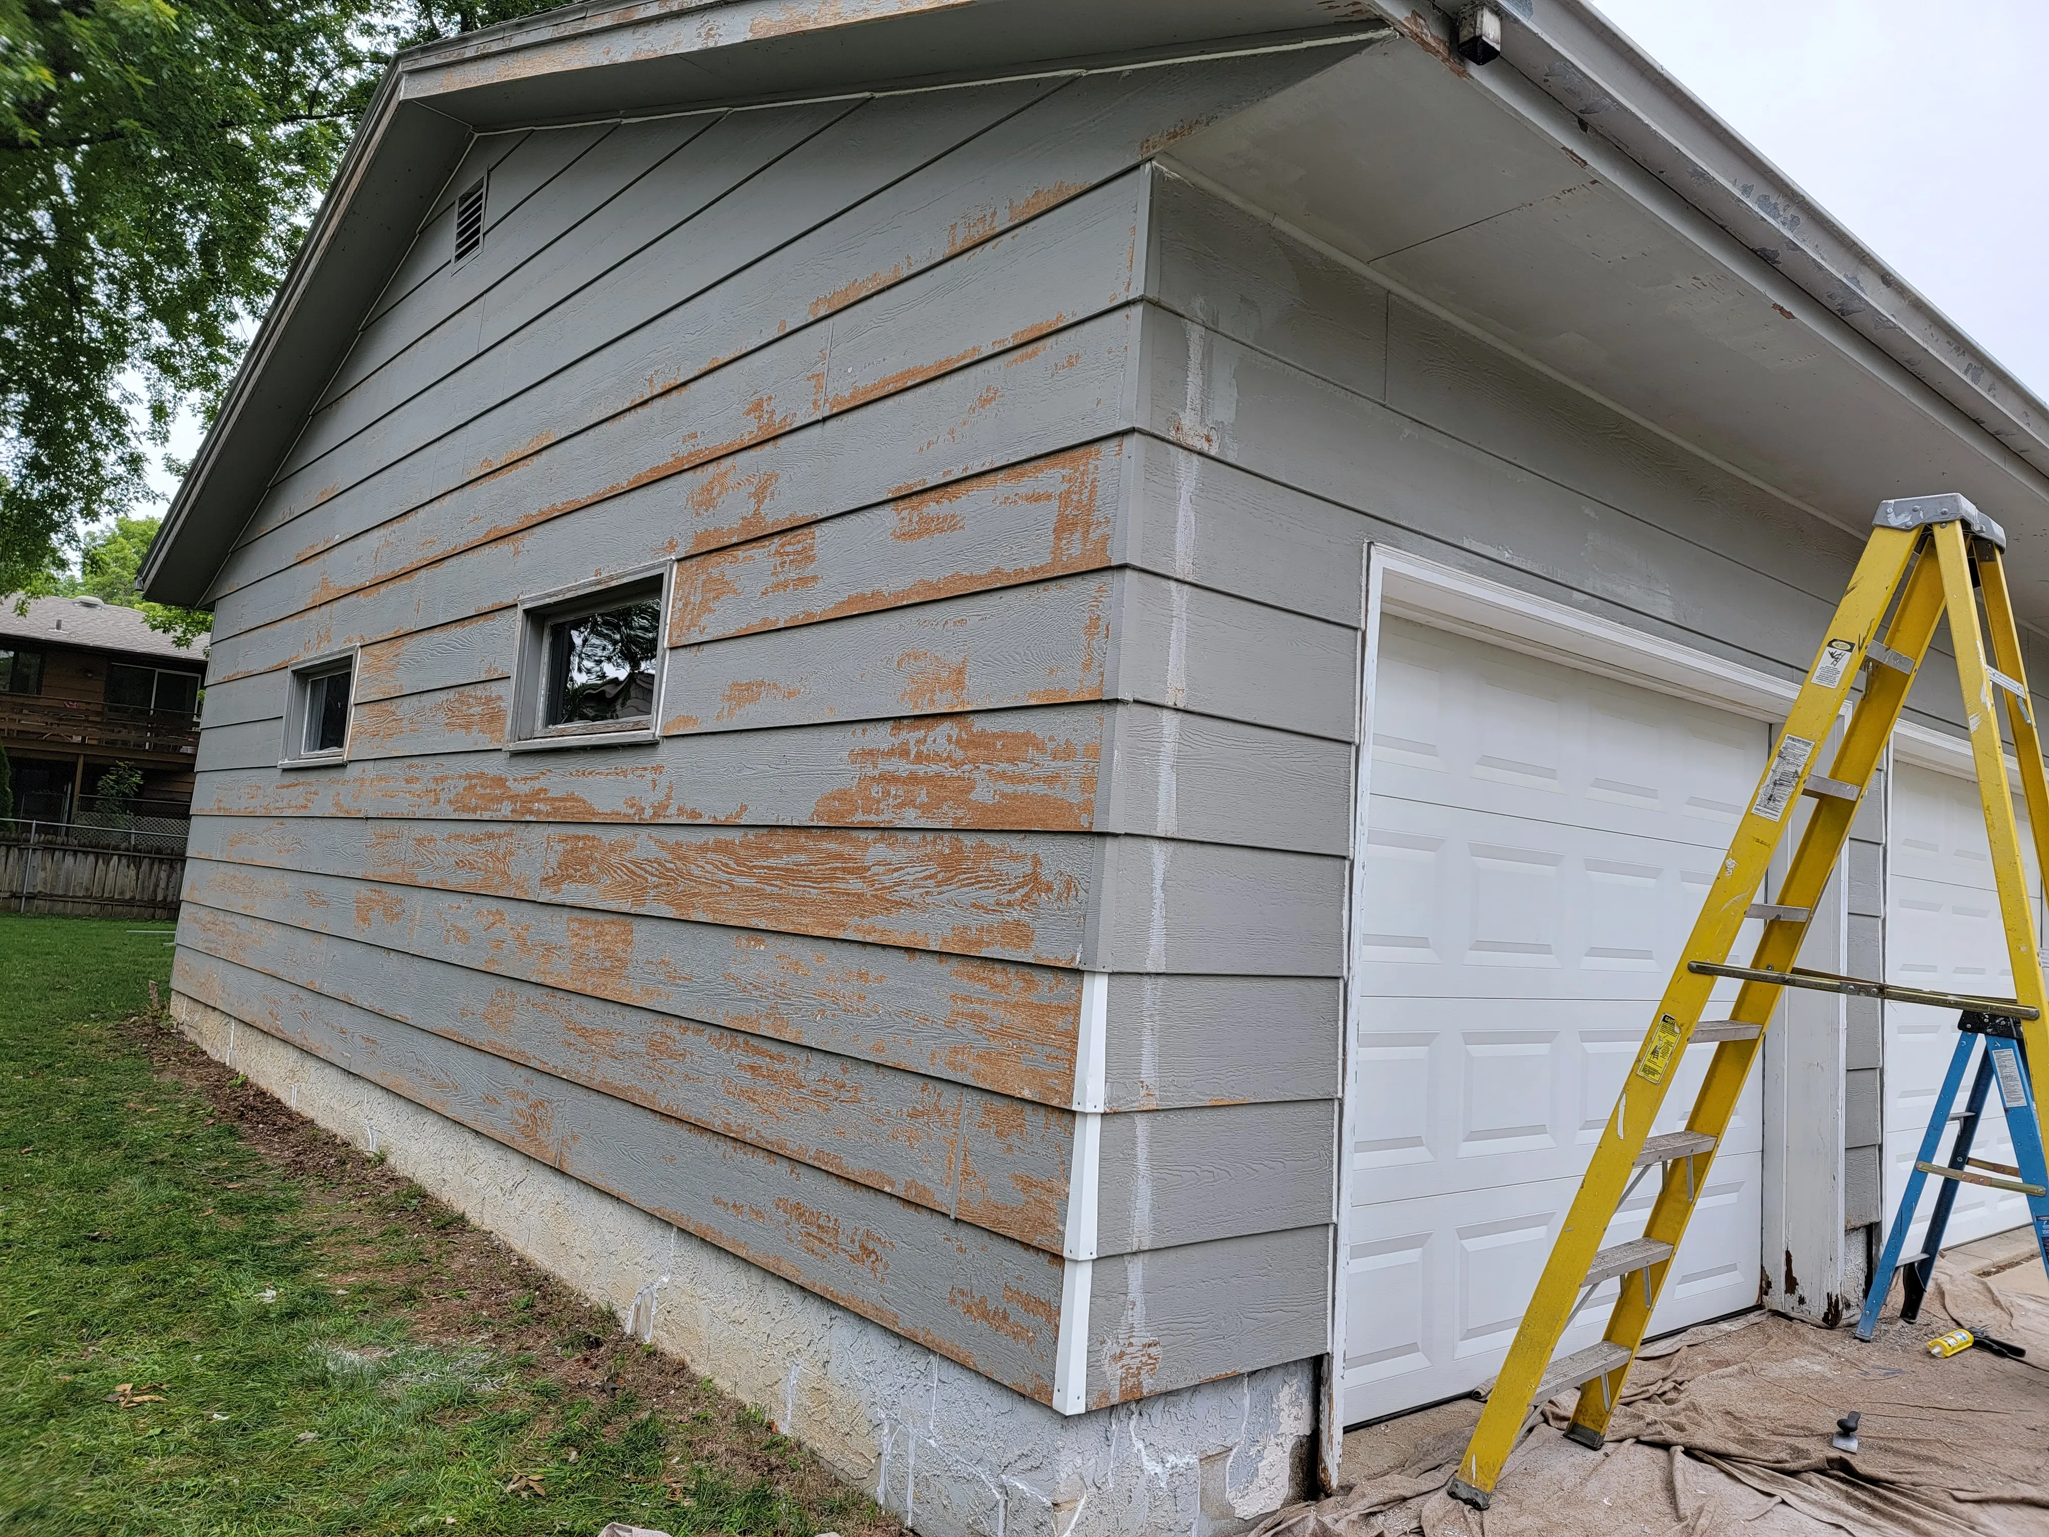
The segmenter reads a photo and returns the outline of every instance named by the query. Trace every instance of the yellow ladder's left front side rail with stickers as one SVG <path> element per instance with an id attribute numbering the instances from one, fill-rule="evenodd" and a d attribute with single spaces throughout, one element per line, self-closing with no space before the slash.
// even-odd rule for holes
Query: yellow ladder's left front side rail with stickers
<path id="1" fill-rule="evenodd" d="M 1543 1381 L 1551 1351 L 1563 1332 L 1565 1314 L 1580 1293 L 1582 1279 L 1615 1217 L 1623 1185 L 1633 1174 L 1635 1156 L 1643 1148 L 1651 1121 L 1656 1121 L 1676 1076 L 1672 1072 L 1676 1057 L 1684 1051 L 1686 1037 L 1715 988 L 1713 978 L 1688 971 L 1686 959 L 1725 959 L 1736 945 L 1770 857 L 1785 838 L 1791 822 L 1789 809 L 1813 771 L 1813 750 L 1828 740 L 1850 684 L 1856 680 L 1854 660 L 1879 635 L 1920 541 L 1918 529 L 1875 529 L 1850 576 L 1842 605 L 1830 619 L 1815 660 L 1787 713 L 1779 746 L 1770 762 L 1764 764 L 1750 809 L 1736 828 L 1729 855 L 1701 904 L 1680 961 L 1666 984 L 1654 1025 L 1623 1078 L 1615 1109 L 1594 1146 L 1586 1176 L 1565 1213 L 1551 1256 L 1537 1281 L 1537 1291 L 1516 1328 L 1514 1344 L 1508 1348 L 1508 1359 L 1502 1363 L 1467 1455 L 1459 1465 L 1457 1482 L 1481 1498 L 1494 1488 L 1508 1453 L 1514 1449 L 1531 1396 Z M 1766 943 L 1772 943 L 1770 937 L 1776 928 L 1783 924 L 1766 924 Z M 1789 932 L 1787 941 L 1787 959 L 1791 959 L 1797 951 L 1797 934 Z M 1768 988 L 1768 992 L 1774 996 L 1776 988 Z M 1754 1041 L 1725 1045 L 1742 1045 L 1746 1066 L 1748 1053 L 1756 1047 Z M 1717 1060 L 1721 1060 L 1719 1049 Z M 1713 1068 L 1709 1074 L 1715 1076 Z M 1740 1090 L 1742 1084 L 1736 1088 Z M 1727 1092 L 1725 1098 L 1733 1107 L 1733 1092 Z M 1670 1182 L 1666 1189 L 1670 1191 Z M 1635 1295 L 1635 1287 L 1623 1287 L 1623 1295 Z M 1611 1383 L 1619 1387 L 1625 1371 L 1613 1373 Z M 1590 1398 L 1590 1394 L 1582 1394 L 1582 1398 Z"/>

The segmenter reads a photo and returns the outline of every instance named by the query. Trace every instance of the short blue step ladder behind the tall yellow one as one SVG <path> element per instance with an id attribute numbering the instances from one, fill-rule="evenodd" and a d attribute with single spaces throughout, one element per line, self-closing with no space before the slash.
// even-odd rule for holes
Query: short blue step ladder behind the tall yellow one
<path id="1" fill-rule="evenodd" d="M 1977 1076 L 1971 1080 L 1971 1094 L 1965 1098 L 1963 1109 L 1955 1111 L 1957 1090 L 1963 1086 L 1963 1070 L 1971 1066 L 1979 1043 L 1983 1043 L 1985 1051 L 1977 1057 Z M 2006 1111 L 2006 1131 L 2014 1141 L 2014 1158 L 2020 1160 L 2018 1168 L 1971 1156 L 1971 1144 L 1977 1139 L 1977 1127 L 1983 1123 L 1985 1100 L 1992 1096 L 1994 1086 L 2000 1090 L 2000 1107 Z M 1957 1137 L 1951 1144 L 1949 1162 L 1938 1164 L 1934 1156 L 1951 1123 L 1957 1127 Z M 1942 1189 L 1934 1197 L 1928 1232 L 1922 1238 L 1920 1252 L 1912 1258 L 1901 1258 L 1908 1234 L 1914 1228 L 1914 1209 L 1920 1205 L 1922 1187 L 1930 1178 L 1940 1180 Z M 1928 1281 L 1934 1279 L 1936 1254 L 1942 1252 L 1949 1211 L 1957 1205 L 1957 1185 L 1983 1185 L 1994 1191 L 2024 1195 L 2029 1199 L 2029 1217 L 2035 1226 L 2035 1246 L 2043 1254 L 2043 1264 L 2049 1266 L 2049 1166 L 2043 1162 L 2043 1131 L 2035 1115 L 2035 1096 L 2029 1090 L 2029 1064 L 2026 1047 L 2020 1043 L 2020 1021 L 2006 1014 L 1965 1010 L 1957 1016 L 1957 1049 L 1949 1060 L 1949 1076 L 1942 1078 L 1942 1092 L 1936 1094 L 1928 1135 L 1922 1137 L 1920 1158 L 1914 1160 L 1906 1195 L 1899 1197 L 1899 1215 L 1893 1217 L 1893 1228 L 1885 1234 L 1885 1256 L 1879 1260 L 1879 1273 L 1865 1295 L 1865 1312 L 1856 1320 L 1856 1338 L 1869 1340 L 1877 1332 L 1879 1314 L 1885 1310 L 1885 1297 L 1891 1295 L 1895 1275 L 1906 1287 L 1899 1318 L 1914 1322 L 1920 1316 Z"/>

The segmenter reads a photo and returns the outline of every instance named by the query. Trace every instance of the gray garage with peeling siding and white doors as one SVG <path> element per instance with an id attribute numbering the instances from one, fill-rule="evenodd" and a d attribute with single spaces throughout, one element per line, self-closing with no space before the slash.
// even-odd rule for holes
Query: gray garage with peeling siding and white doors
<path id="1" fill-rule="evenodd" d="M 184 1027 L 924 1533 L 1227 1529 L 1490 1377 L 1877 502 L 2049 621 L 2049 412 L 1504 10 L 402 57 L 145 574 Z M 1988 992 L 1930 672 L 1807 961 Z M 1854 1312 L 1947 1029 L 1787 1006 L 1660 1328 Z"/>

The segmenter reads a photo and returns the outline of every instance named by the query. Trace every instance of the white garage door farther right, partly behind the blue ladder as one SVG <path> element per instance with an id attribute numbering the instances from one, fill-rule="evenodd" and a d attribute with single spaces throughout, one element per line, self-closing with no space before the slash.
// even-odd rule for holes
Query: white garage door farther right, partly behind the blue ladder
<path id="1" fill-rule="evenodd" d="M 1889 894 L 1885 908 L 1887 980 L 1940 992 L 1973 992 L 1994 998 L 2014 996 L 2014 971 L 2006 959 L 2006 930 L 1992 885 L 1992 853 L 1985 844 L 1985 812 L 1977 803 L 1977 781 L 1899 762 L 1893 773 L 1891 846 L 1887 848 Z M 2026 809 L 2018 797 L 2022 846 Z M 2035 924 L 2041 932 L 2041 877 L 2029 850 L 2029 889 L 2035 894 Z M 1957 1049 L 1957 1010 L 1924 1004 L 1885 1004 L 1885 1209 L 1887 1230 L 1899 1211 L 1908 1174 L 1934 1096 L 1942 1088 L 1951 1051 Z M 1965 1090 L 1971 1080 L 1965 1078 Z M 1963 1092 L 1957 1107 L 1963 1107 Z M 1973 1152 L 2000 1164 L 2014 1162 L 2006 1121 L 1994 1090 Z M 1934 1180 L 1928 1180 L 1934 1187 Z M 1934 1189 L 1922 1191 L 1914 1246 L 1934 1207 Z M 2022 1195 L 1957 1187 L 1945 1244 L 1967 1244 L 1985 1234 L 2018 1228 L 2029 1219 Z"/>

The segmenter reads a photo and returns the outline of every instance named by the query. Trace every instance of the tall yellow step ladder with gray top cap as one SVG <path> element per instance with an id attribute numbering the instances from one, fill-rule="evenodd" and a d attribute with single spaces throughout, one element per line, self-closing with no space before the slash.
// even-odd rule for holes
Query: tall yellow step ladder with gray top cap
<path id="1" fill-rule="evenodd" d="M 2020 635 L 2006 592 L 2004 549 L 2006 535 L 2000 525 L 1963 496 L 1910 496 L 1879 504 L 1871 541 L 1850 576 L 1850 588 L 1793 701 L 1776 750 L 1758 781 L 1758 793 L 1736 828 L 1729 855 L 1701 906 L 1649 1035 L 1643 1037 L 1635 1064 L 1623 1080 L 1615 1113 L 1600 1133 L 1580 1193 L 1537 1281 L 1537 1293 L 1522 1314 L 1516 1342 L 1508 1348 L 1508 1361 L 1488 1396 L 1473 1441 L 1451 1480 L 1451 1494 L 1459 1500 L 1488 1508 L 1502 1465 L 1533 1422 L 1535 1410 L 1565 1387 L 1580 1387 L 1580 1404 L 1565 1435 L 1588 1447 L 1602 1443 L 1623 1379 L 1643 1344 L 1643 1330 L 1672 1266 L 1672 1252 L 1686 1236 L 1686 1221 L 1692 1217 L 1695 1201 L 1705 1187 L 1781 990 L 1817 988 L 2018 1019 L 2035 1105 L 2049 1105 L 2043 969 L 2029 910 L 2020 832 L 2006 781 L 2002 713 L 2020 760 L 2020 787 L 2045 871 L 2049 871 L 2049 783 L 2043 779 L 2043 750 L 2029 707 Z M 2006 922 L 2016 998 L 1961 998 L 1803 971 L 1793 965 L 1813 906 L 1822 900 L 1822 887 L 1850 832 L 1856 803 L 1885 754 L 1908 684 L 1928 656 L 1936 621 L 1945 613 L 1971 728 L 1971 758 L 1977 768 L 1979 801 L 1985 807 L 1985 834 L 1992 840 L 1992 869 Z M 1858 676 L 1865 678 L 1865 687 L 1850 707 L 1842 746 L 1828 775 L 1815 773 L 1815 754 L 1836 728 Z M 1754 898 L 1801 795 L 1813 797 L 1807 830 L 1793 853 L 1779 898 L 1758 904 Z M 1729 947 L 1744 920 L 1752 916 L 1764 918 L 1764 937 L 1750 965 L 1729 965 Z M 1736 994 L 1729 1019 L 1703 1021 L 1701 1012 L 1719 978 L 1736 978 L 1744 986 Z M 1649 1135 L 1680 1055 L 1688 1047 L 1709 1043 L 1715 1057 L 1686 1129 Z M 1600 1248 L 1611 1219 L 1635 1189 L 1635 1180 L 1654 1168 L 1662 1170 L 1662 1187 L 1643 1236 Z M 1606 1334 L 1598 1344 L 1553 1361 L 1551 1353 L 1559 1338 L 1606 1281 L 1621 1283 Z"/>

